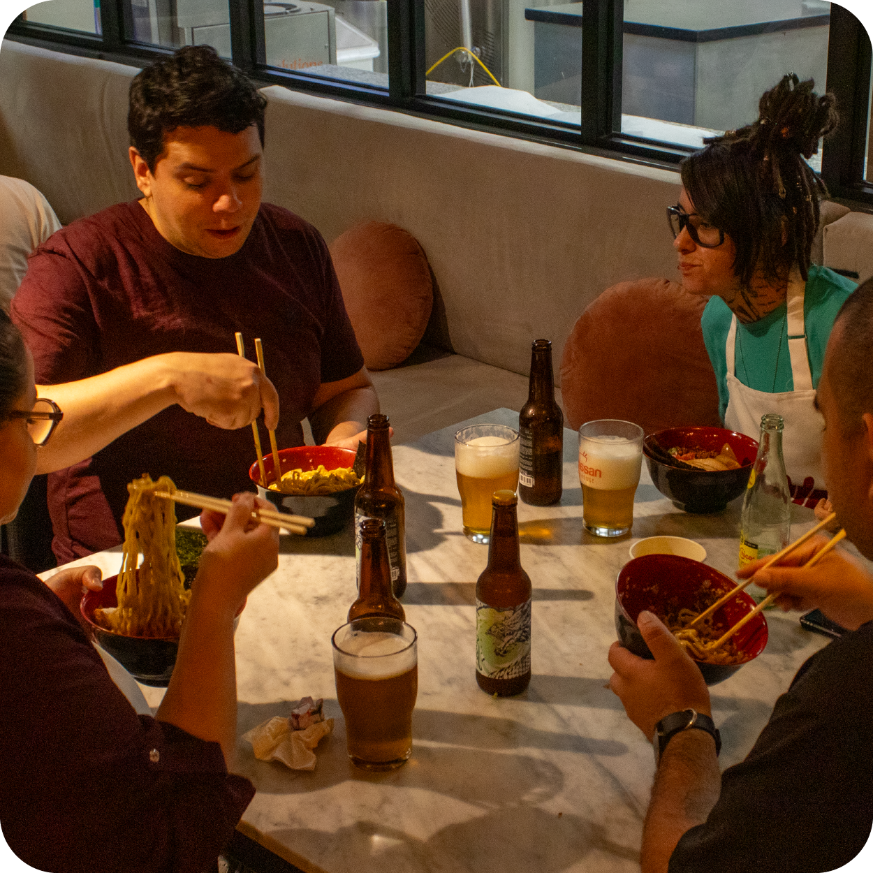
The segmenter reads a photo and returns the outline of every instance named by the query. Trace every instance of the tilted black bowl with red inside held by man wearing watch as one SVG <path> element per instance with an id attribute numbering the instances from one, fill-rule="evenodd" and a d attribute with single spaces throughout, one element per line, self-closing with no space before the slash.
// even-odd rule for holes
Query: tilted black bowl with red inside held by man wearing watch
<path id="1" fill-rule="evenodd" d="M 702 612 L 736 585 L 723 573 L 698 560 L 677 554 L 645 554 L 629 560 L 615 581 L 615 630 L 622 645 L 640 657 L 652 656 L 643 640 L 636 618 L 643 611 L 663 617 L 681 608 Z M 739 592 L 712 616 L 712 627 L 723 632 L 755 608 L 755 601 Z M 732 642 L 742 654 L 739 663 L 704 663 L 695 660 L 707 685 L 724 681 L 764 651 L 766 619 L 758 613 L 740 628 Z"/>

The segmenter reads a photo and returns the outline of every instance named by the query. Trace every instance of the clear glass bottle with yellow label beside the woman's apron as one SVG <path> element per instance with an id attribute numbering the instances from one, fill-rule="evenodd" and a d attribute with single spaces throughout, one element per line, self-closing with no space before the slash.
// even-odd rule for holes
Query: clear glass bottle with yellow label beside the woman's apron
<path id="1" fill-rule="evenodd" d="M 758 457 L 746 485 L 739 523 L 739 567 L 779 552 L 791 540 L 791 493 L 782 457 L 782 427 L 782 416 L 761 416 Z M 766 597 L 766 591 L 755 584 L 746 591 L 756 601 Z"/>

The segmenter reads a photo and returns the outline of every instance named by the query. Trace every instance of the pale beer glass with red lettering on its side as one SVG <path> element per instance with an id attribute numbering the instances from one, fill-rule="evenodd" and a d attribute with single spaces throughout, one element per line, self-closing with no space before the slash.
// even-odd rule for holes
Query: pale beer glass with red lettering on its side
<path id="1" fill-rule="evenodd" d="M 634 523 L 634 492 L 643 465 L 643 428 L 615 418 L 579 429 L 582 522 L 598 537 L 620 537 Z"/>

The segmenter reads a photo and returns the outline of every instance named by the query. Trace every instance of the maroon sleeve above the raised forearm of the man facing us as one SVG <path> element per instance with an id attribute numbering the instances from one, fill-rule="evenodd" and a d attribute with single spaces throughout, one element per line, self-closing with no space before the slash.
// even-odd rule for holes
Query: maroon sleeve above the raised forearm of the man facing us
<path id="1" fill-rule="evenodd" d="M 38 384 L 94 375 L 100 343 L 89 295 L 92 281 L 58 234 L 31 256 L 11 315 L 33 354 Z"/>

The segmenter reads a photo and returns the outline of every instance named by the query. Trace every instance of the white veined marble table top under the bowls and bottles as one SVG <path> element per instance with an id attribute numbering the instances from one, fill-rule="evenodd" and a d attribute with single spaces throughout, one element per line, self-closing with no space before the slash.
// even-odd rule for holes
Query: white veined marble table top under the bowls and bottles
<path id="1" fill-rule="evenodd" d="M 518 424 L 498 409 L 468 423 Z M 356 596 L 351 530 L 283 537 L 278 570 L 249 597 L 237 630 L 238 733 L 299 698 L 325 698 L 335 718 L 313 773 L 254 758 L 240 741 L 238 773 L 258 789 L 240 829 L 306 871 L 638 870 L 654 760 L 621 702 L 604 688 L 615 576 L 629 545 L 656 534 L 698 540 L 706 563 L 732 575 L 741 498 L 693 516 L 656 491 L 643 464 L 630 535 L 582 529 L 578 437 L 565 430 L 560 505 L 519 503 L 521 561 L 533 582 L 533 678 L 518 698 L 491 698 L 475 679 L 475 585 L 487 548 L 461 531 L 454 472 L 456 427 L 395 446 L 406 498 L 407 621 L 418 631 L 413 752 L 394 773 L 347 760 L 330 637 Z M 814 521 L 794 506 L 793 535 Z M 116 572 L 120 553 L 92 562 Z M 84 562 L 84 561 L 83 561 Z M 748 753 L 776 698 L 826 644 L 797 615 L 767 613 L 766 651 L 712 689 L 721 766 Z M 149 704 L 160 699 L 145 689 Z"/>

